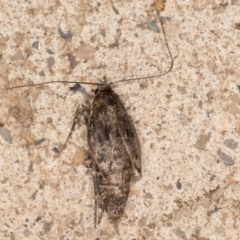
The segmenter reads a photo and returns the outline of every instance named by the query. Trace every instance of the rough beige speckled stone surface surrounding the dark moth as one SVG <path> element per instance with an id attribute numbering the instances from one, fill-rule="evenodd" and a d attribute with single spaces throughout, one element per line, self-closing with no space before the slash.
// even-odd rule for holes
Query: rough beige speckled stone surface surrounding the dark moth
<path id="1" fill-rule="evenodd" d="M 117 81 L 170 61 L 152 1 L 0 2 L 0 85 Z M 93 229 L 86 93 L 52 84 L 1 92 L 0 239 L 240 239 L 240 1 L 166 2 L 175 60 L 119 84 L 142 146 L 118 229 Z M 157 26 L 157 25 L 158 26 Z"/>

